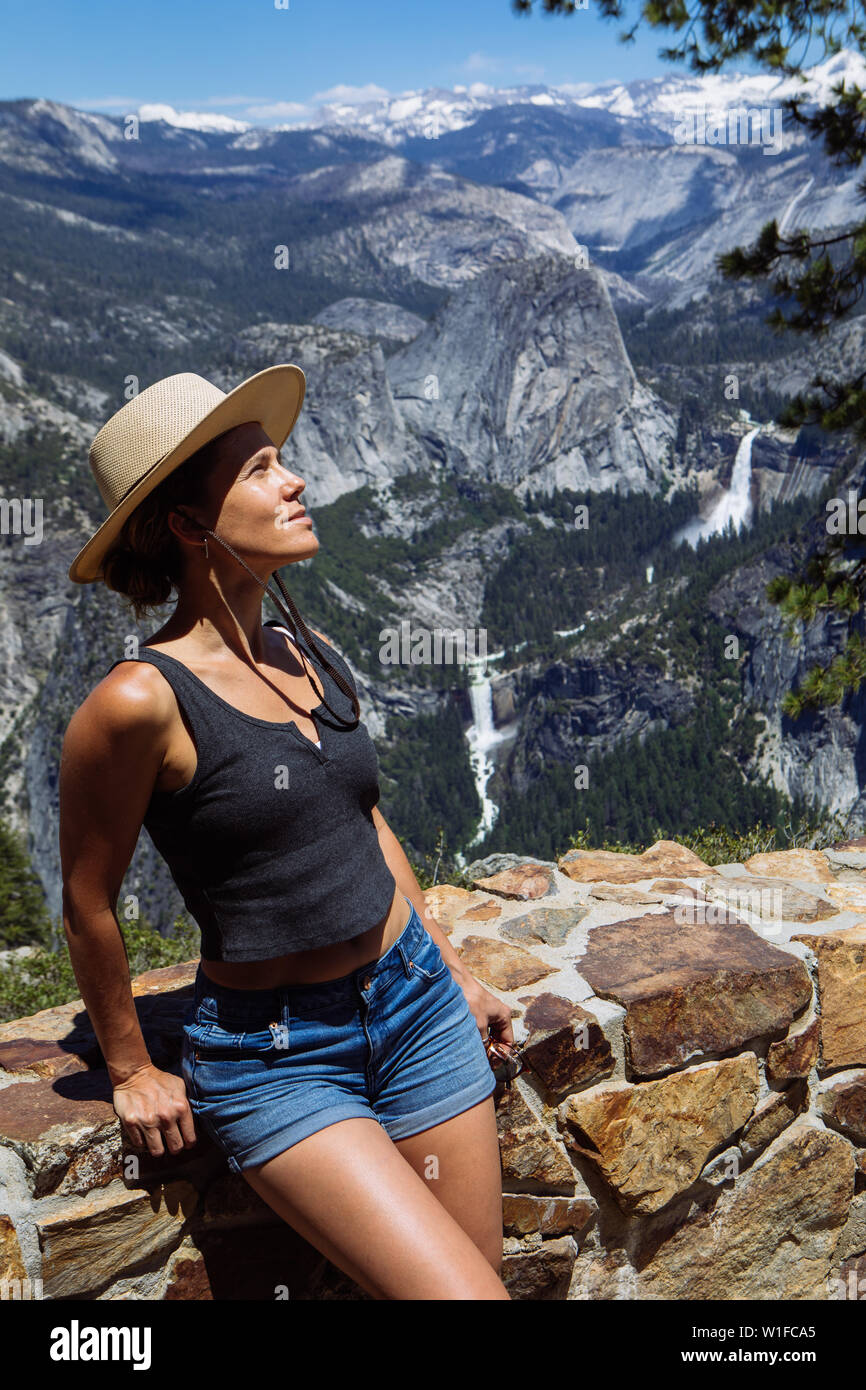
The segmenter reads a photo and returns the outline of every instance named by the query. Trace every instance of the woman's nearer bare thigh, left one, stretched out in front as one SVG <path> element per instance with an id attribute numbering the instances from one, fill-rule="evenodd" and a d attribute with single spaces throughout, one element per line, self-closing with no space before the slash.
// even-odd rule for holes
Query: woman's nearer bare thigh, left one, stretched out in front
<path id="1" fill-rule="evenodd" d="M 452 1145 L 442 1148 L 441 1137 L 446 1130 L 439 1125 L 428 1134 L 439 1136 L 450 1169 Z M 374 1298 L 509 1298 L 491 1261 L 373 1118 L 328 1125 L 277 1158 L 243 1169 L 243 1177 Z"/>

